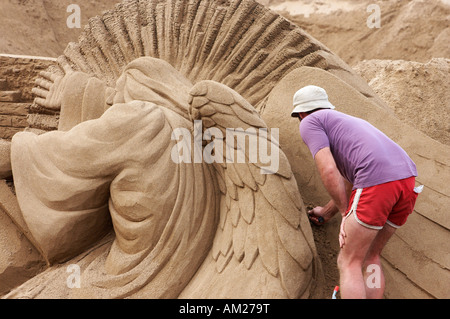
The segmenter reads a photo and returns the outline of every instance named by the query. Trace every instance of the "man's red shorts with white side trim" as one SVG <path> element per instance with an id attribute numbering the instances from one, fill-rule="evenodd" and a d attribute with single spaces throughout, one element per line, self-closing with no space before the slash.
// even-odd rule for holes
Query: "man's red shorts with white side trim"
<path id="1" fill-rule="evenodd" d="M 415 181 L 410 177 L 353 190 L 346 216 L 354 212 L 358 223 L 372 229 L 382 229 L 386 223 L 395 228 L 403 226 L 420 193 L 414 188 Z"/>

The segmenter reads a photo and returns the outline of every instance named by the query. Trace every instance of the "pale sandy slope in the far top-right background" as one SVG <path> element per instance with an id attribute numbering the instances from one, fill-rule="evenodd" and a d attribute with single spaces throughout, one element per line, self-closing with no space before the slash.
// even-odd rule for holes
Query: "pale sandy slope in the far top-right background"
<path id="1" fill-rule="evenodd" d="M 266 1 L 350 65 L 361 60 L 411 60 L 426 63 L 450 57 L 449 1 L 297 0 Z M 367 20 L 381 10 L 381 28 Z"/>

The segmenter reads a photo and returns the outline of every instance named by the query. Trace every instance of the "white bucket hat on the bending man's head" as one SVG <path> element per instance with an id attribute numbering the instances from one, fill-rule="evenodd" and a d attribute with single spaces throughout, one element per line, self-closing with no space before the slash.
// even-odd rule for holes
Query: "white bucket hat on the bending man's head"
<path id="1" fill-rule="evenodd" d="M 324 89 L 308 85 L 294 94 L 292 117 L 298 117 L 300 112 L 309 112 L 315 109 L 335 109 L 334 105 L 328 101 L 328 94 Z"/>

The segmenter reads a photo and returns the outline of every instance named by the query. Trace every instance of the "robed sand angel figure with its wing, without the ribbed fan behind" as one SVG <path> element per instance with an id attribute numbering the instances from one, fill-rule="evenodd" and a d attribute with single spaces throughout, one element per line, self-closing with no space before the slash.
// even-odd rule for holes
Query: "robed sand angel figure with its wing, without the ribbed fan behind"
<path id="1" fill-rule="evenodd" d="M 210 165 L 194 163 L 191 154 L 187 162 L 172 160 L 172 132 L 192 131 L 194 120 L 223 136 L 236 125 L 266 128 L 239 94 L 213 81 L 193 86 L 149 57 L 124 69 L 113 96 L 82 72 L 50 78 L 51 86 L 40 84 L 54 91 L 36 102 L 61 105 L 58 131 L 12 140 L 23 217 L 51 264 L 88 249 L 111 222 L 115 235 L 95 249 L 83 288 L 71 296 L 231 297 L 230 282 L 245 284 L 242 296 L 262 282 L 261 296 L 309 296 L 319 269 L 287 158 L 280 157 L 276 174 L 261 174 L 260 162 Z M 277 142 L 270 144 L 274 152 Z"/>

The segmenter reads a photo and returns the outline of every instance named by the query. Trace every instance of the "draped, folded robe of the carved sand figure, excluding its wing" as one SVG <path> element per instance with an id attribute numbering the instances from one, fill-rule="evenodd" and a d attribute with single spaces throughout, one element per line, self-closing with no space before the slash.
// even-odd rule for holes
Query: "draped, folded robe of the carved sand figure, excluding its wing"
<path id="1" fill-rule="evenodd" d="M 149 281 L 164 288 L 148 296 L 177 296 L 204 259 L 217 217 L 210 168 L 170 156 L 172 130 L 192 128 L 190 83 L 166 62 L 138 59 L 109 107 L 111 90 L 99 80 L 70 77 L 78 81 L 65 85 L 60 129 L 12 141 L 24 219 L 50 262 L 85 251 L 112 221 L 115 239 L 94 267 L 103 283 L 92 284 L 93 296 L 129 296 Z M 85 283 L 96 281 L 86 276 Z"/>

